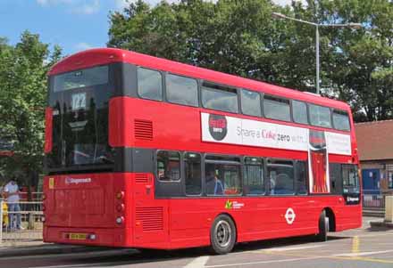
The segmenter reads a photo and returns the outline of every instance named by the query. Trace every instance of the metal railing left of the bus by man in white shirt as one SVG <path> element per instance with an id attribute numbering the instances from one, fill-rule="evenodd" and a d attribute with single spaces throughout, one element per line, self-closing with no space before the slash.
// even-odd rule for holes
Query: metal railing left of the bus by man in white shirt
<path id="1" fill-rule="evenodd" d="M 0 243 L 42 240 L 42 201 L 6 202 L 0 199 Z"/>

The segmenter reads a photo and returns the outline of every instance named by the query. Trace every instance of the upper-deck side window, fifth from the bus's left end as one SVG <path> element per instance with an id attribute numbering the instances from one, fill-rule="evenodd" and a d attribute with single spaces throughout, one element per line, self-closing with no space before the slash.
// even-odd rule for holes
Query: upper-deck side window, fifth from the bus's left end
<path id="1" fill-rule="evenodd" d="M 290 121 L 289 101 L 265 95 L 263 97 L 263 114 L 266 118 Z"/>

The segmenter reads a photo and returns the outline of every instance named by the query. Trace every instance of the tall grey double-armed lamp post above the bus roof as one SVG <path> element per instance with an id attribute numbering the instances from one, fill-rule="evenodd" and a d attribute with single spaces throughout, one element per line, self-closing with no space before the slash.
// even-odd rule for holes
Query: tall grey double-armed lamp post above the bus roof
<path id="1" fill-rule="evenodd" d="M 303 22 L 305 24 L 313 25 L 315 27 L 315 58 L 316 58 L 316 93 L 320 93 L 320 56 L 319 56 L 319 28 L 320 27 L 332 27 L 332 28 L 362 28 L 360 23 L 338 23 L 338 24 L 320 24 L 307 20 L 300 20 L 292 17 L 288 17 L 279 12 L 272 12 L 272 17 L 276 19 L 288 19 L 295 20 L 297 22 Z"/>

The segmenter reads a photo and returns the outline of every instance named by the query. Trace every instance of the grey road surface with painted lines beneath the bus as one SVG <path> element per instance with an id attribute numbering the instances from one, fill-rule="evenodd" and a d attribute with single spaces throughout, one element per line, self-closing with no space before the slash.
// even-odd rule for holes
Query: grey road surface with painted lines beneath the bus
<path id="1" fill-rule="evenodd" d="M 313 237 L 263 240 L 238 245 L 225 256 L 209 255 L 205 248 L 140 252 L 129 248 L 88 248 L 36 244 L 0 248 L 0 267 L 269 267 L 269 268 L 380 268 L 393 267 L 393 230 L 362 228 L 330 233 L 327 242 Z"/>

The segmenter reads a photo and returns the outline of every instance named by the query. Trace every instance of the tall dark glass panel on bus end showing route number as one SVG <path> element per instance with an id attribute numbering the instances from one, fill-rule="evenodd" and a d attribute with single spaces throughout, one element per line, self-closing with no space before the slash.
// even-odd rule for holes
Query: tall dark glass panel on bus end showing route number
<path id="1" fill-rule="evenodd" d="M 79 69 L 49 79 L 52 151 L 49 170 L 80 170 L 113 164 L 108 145 L 108 102 L 113 95 L 110 66 Z"/>

